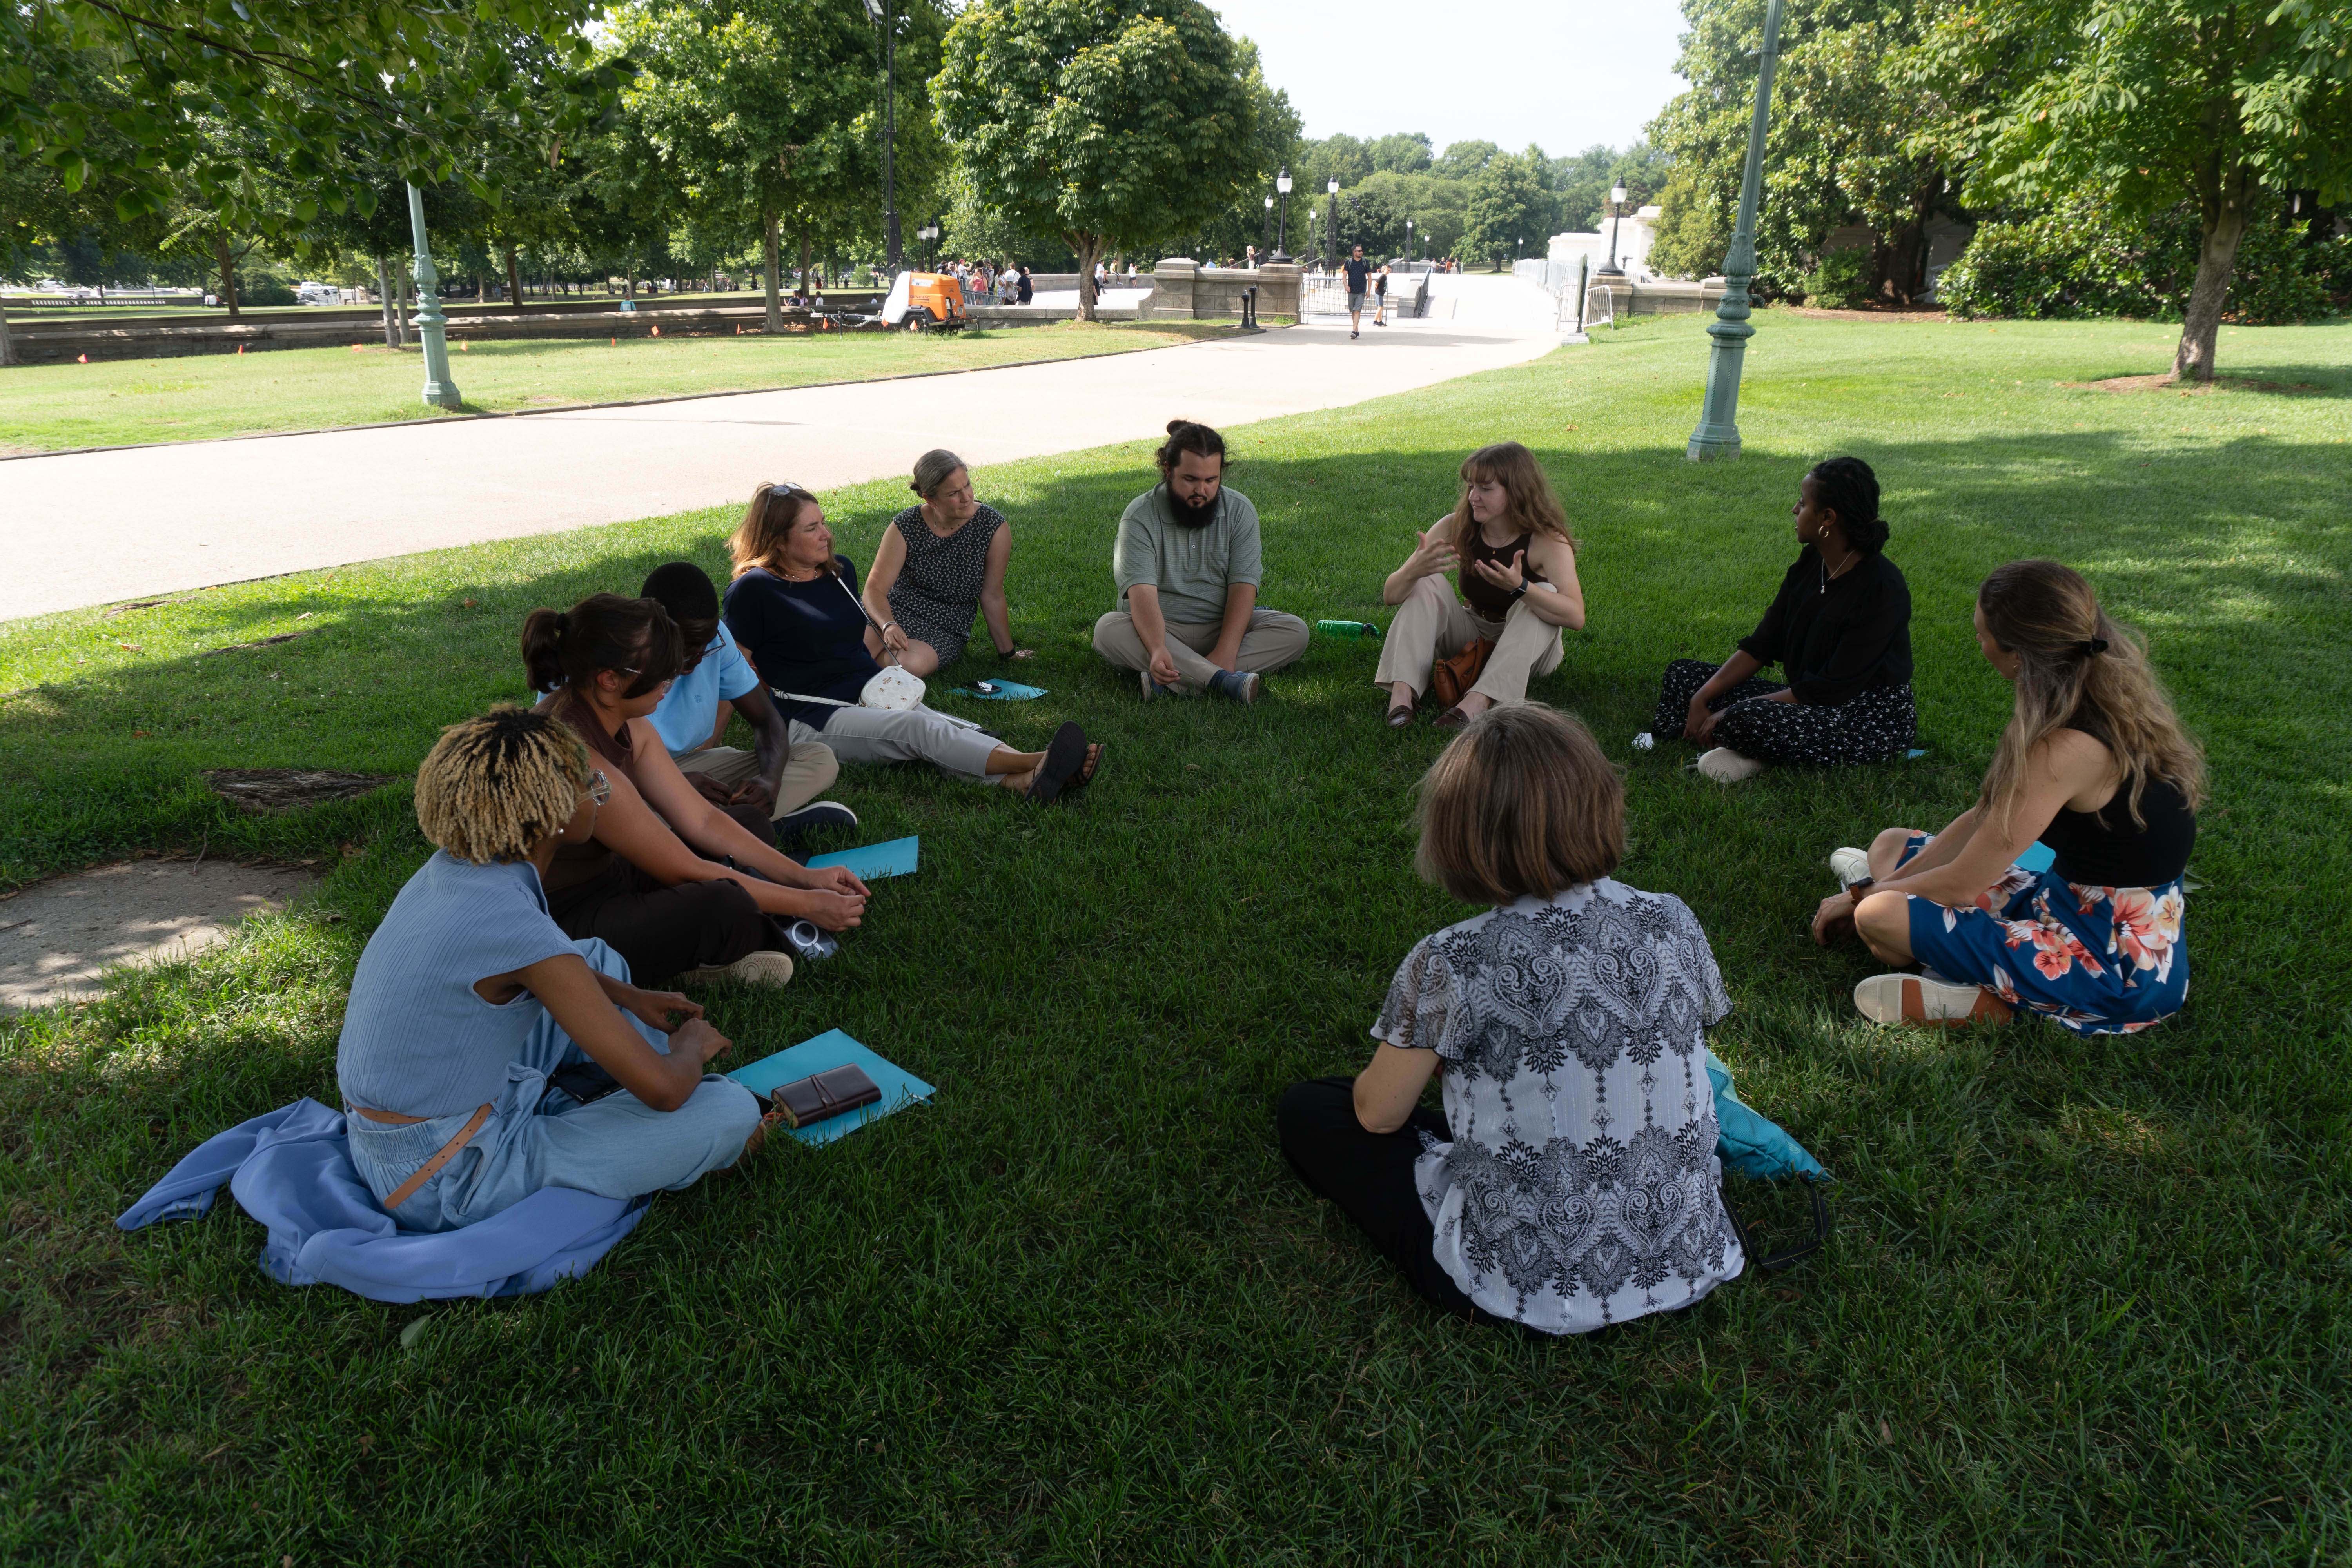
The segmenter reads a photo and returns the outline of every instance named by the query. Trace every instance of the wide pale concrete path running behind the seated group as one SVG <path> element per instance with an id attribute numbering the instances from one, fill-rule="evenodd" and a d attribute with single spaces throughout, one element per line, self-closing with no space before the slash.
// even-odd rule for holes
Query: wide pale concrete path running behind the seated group
<path id="1" fill-rule="evenodd" d="M 16 458 L 0 463 L 0 621 L 741 503 L 764 480 L 854 484 L 931 447 L 988 465 L 1157 437 L 1176 416 L 1334 409 L 1550 348 L 1498 308 L 1355 343 L 1294 327 L 922 381 Z"/>

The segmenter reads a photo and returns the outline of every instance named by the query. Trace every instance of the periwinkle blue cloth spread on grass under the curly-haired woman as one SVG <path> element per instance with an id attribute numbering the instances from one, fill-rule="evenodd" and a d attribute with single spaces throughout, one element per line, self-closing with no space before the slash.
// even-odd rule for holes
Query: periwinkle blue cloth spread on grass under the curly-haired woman
<path id="1" fill-rule="evenodd" d="M 548 1187 L 480 1225 L 402 1232 L 360 1180 L 343 1117 L 294 1100 L 207 1138 L 118 1220 L 193 1220 L 228 1182 L 268 1227 L 261 1269 L 282 1286 L 343 1286 L 379 1302 L 536 1295 L 586 1274 L 644 1218 L 644 1199 Z"/>

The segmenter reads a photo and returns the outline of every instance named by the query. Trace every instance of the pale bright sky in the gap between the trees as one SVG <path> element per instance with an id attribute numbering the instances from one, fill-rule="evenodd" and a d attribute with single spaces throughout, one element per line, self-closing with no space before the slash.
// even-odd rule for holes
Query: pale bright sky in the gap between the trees
<path id="1" fill-rule="evenodd" d="M 1411 125 L 1439 148 L 1625 146 L 1668 99 L 1686 28 L 1677 0 L 1209 0 L 1256 40 L 1265 80 L 1291 94 L 1308 136 Z"/>

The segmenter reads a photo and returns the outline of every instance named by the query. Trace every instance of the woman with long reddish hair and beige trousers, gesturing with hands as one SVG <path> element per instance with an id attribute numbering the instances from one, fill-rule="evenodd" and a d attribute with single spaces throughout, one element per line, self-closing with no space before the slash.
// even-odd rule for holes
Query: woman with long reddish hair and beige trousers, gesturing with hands
<path id="1" fill-rule="evenodd" d="M 1390 693 L 1390 726 L 1414 722 L 1435 661 L 1475 642 L 1489 644 L 1486 663 L 1437 715 L 1437 729 L 1522 701 L 1529 677 L 1550 675 L 1566 656 L 1559 630 L 1585 623 L 1576 538 L 1536 454 L 1519 442 L 1479 447 L 1463 458 L 1461 480 L 1456 508 L 1418 534 L 1421 545 L 1381 583 L 1381 602 L 1399 607 L 1371 677 Z M 1446 571 L 1468 602 L 1446 592 Z"/>

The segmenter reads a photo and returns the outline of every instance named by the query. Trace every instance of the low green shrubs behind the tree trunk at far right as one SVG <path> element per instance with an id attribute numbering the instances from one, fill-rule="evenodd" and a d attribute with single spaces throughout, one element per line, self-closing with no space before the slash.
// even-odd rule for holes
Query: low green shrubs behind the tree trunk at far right
<path id="1" fill-rule="evenodd" d="M 2152 223 L 2129 221 L 2112 207 L 2065 207 L 1980 226 L 1945 268 L 1936 296 L 1955 315 L 2178 322 L 2197 277 L 2197 244 L 2199 223 L 2187 205 Z M 2340 308 L 2331 292 L 2347 292 L 2338 282 L 2347 259 L 2352 240 L 2319 240 L 2312 223 L 2274 212 L 2239 242 L 2225 320 L 2274 324 L 2328 315 Z"/>

